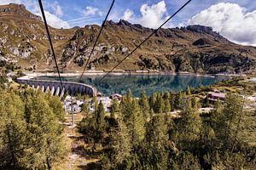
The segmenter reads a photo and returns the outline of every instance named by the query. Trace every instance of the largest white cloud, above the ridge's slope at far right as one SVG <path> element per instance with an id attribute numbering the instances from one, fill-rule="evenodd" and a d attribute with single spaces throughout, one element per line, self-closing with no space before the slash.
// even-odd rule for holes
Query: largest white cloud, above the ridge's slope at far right
<path id="1" fill-rule="evenodd" d="M 230 41 L 256 46 L 256 10 L 247 12 L 236 3 L 212 5 L 189 20 L 189 24 L 212 26 Z"/>

